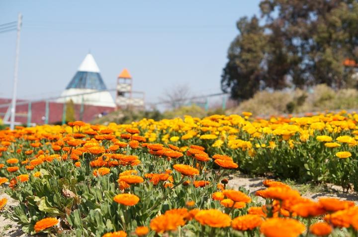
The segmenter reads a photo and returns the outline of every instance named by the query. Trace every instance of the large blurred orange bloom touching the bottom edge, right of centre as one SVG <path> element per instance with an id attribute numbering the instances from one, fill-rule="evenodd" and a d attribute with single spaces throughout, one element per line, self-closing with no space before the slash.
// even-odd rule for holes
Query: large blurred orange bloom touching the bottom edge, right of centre
<path id="1" fill-rule="evenodd" d="M 266 237 L 297 237 L 305 227 L 295 219 L 269 218 L 261 224 L 260 231 Z"/>

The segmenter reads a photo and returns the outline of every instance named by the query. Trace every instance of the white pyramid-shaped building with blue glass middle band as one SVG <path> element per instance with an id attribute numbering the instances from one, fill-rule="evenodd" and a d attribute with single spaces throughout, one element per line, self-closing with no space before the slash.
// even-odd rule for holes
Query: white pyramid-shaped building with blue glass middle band
<path id="1" fill-rule="evenodd" d="M 75 104 L 115 107 L 106 89 L 93 56 L 88 54 L 57 102 L 64 103 L 72 99 Z"/>

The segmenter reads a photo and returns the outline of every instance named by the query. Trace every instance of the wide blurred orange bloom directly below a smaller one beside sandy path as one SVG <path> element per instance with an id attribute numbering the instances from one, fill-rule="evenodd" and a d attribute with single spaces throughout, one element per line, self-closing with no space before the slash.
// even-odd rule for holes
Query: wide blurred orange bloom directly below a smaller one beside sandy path
<path id="1" fill-rule="evenodd" d="M 300 197 L 300 194 L 296 190 L 292 190 L 286 187 L 269 187 L 265 190 L 259 190 L 255 193 L 256 196 L 278 200 L 289 200 Z"/>

